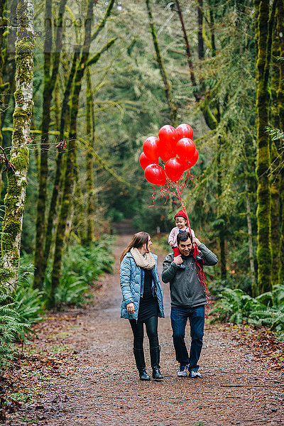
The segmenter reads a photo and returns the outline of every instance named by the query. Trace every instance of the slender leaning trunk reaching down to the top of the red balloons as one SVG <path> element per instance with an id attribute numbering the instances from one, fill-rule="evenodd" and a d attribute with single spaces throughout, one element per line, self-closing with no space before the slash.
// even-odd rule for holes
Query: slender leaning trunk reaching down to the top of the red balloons
<path id="1" fill-rule="evenodd" d="M 171 89 L 170 89 L 170 80 L 168 80 L 168 75 L 167 75 L 167 72 L 165 71 L 165 65 L 163 63 L 163 58 L 162 58 L 162 55 L 160 54 L 160 47 L 159 47 L 159 44 L 158 44 L 158 38 L 157 38 L 157 33 L 155 31 L 153 14 L 152 14 L 152 11 L 151 11 L 151 0 L 146 0 L 146 6 L 147 6 L 148 18 L 149 18 L 149 22 L 150 22 L 151 34 L 152 34 L 153 43 L 154 43 L 154 47 L 155 47 L 155 54 L 156 54 L 156 57 L 157 57 L 158 66 L 160 68 L 160 74 L 163 78 L 163 83 L 164 83 L 164 87 L 165 87 L 165 97 L 167 99 L 168 107 L 170 109 L 170 121 L 171 121 L 173 126 L 177 126 L 178 109 L 173 102 L 173 96 L 172 96 Z"/>

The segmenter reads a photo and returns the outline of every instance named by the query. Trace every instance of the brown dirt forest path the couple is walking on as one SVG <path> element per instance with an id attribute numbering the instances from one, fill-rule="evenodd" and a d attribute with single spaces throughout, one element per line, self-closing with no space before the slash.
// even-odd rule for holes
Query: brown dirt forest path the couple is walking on
<path id="1" fill-rule="evenodd" d="M 43 381 L 39 400 L 25 404 L 17 416 L 8 416 L 7 424 L 284 425 L 283 372 L 271 371 L 249 349 L 226 339 L 218 326 L 205 329 L 202 378 L 177 377 L 168 285 L 163 285 L 166 317 L 159 321 L 164 380 L 138 380 L 129 322 L 120 318 L 119 254 L 130 239 L 130 235 L 119 235 L 115 273 L 104 277 L 104 288 L 94 305 L 66 317 L 63 332 L 54 330 L 62 334 L 62 344 L 72 343 L 73 357 L 56 367 L 47 383 Z M 158 261 L 160 273 L 163 256 Z M 42 327 L 38 337 L 48 344 Z M 145 343 L 150 372 L 148 339 Z"/>

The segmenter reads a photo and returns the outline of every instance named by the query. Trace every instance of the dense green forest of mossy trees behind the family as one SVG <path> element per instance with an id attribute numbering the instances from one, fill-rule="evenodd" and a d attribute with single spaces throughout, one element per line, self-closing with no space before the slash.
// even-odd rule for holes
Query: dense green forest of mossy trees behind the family
<path id="1" fill-rule="evenodd" d="M 149 207 L 153 187 L 139 155 L 161 126 L 188 123 L 199 160 L 183 198 L 195 234 L 218 254 L 215 293 L 239 289 L 226 297 L 264 294 L 262 307 L 280 306 L 283 10 L 283 0 L 2 0 L 1 282 L 15 288 L 29 271 L 24 288 L 43 292 L 47 307 L 72 302 L 66 286 L 79 296 L 99 266 L 110 270 L 114 222 L 168 234 L 180 204 L 156 195 Z M 33 28 L 23 35 L 27 11 Z M 33 57 L 33 106 L 17 124 L 25 55 Z M 22 165 L 9 153 L 21 126 L 30 134 L 20 211 L 11 182 Z"/>

